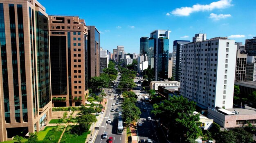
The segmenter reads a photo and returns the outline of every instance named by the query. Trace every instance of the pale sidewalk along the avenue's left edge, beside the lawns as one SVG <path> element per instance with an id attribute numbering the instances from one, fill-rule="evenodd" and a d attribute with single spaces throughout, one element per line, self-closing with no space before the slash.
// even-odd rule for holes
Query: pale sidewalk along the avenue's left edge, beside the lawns
<path id="1" fill-rule="evenodd" d="M 105 102 L 108 102 L 108 100 L 106 98 L 103 99 L 103 102 L 101 102 L 101 104 L 103 104 L 103 107 L 105 107 L 105 109 L 103 108 L 102 111 L 106 111 L 106 105 L 108 104 L 105 104 Z M 105 115 L 106 112 L 104 112 L 103 114 L 100 114 L 99 116 L 96 116 L 97 118 L 97 122 L 92 124 L 90 126 L 90 131 L 91 131 L 91 134 L 88 134 L 87 137 L 86 137 L 86 140 L 85 140 L 85 143 L 93 143 L 97 134 L 98 134 L 98 131 L 99 130 L 95 130 L 94 128 L 95 127 L 100 127 L 101 126 L 101 122 L 103 121 L 104 119 L 104 115 Z"/>

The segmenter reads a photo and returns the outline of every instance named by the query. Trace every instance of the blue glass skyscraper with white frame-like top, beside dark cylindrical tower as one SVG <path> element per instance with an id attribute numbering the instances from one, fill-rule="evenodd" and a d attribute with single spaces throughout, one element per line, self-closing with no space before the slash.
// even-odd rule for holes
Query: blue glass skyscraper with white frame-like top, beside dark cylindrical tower
<path id="1" fill-rule="evenodd" d="M 155 39 L 154 68 L 155 80 L 168 79 L 169 30 L 154 30 L 150 38 Z"/>

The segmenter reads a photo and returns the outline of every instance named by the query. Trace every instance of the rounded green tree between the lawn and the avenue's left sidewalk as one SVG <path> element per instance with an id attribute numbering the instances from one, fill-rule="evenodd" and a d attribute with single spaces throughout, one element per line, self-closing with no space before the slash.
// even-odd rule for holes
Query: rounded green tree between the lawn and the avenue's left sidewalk
<path id="1" fill-rule="evenodd" d="M 95 115 L 82 115 L 77 117 L 77 123 L 79 124 L 79 130 L 86 131 L 89 130 L 92 123 L 97 122 Z"/>

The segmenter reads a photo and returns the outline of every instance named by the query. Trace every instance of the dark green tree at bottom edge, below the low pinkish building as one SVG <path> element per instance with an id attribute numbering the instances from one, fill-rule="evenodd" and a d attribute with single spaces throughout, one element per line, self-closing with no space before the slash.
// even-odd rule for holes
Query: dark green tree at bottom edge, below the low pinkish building
<path id="1" fill-rule="evenodd" d="M 215 137 L 216 143 L 235 143 L 236 136 L 232 131 L 223 131 L 216 134 Z"/>

